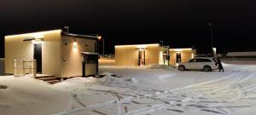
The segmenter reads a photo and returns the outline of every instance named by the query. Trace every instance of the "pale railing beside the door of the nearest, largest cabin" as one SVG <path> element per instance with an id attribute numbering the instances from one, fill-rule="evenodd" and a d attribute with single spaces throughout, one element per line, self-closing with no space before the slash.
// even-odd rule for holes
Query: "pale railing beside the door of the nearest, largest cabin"
<path id="1" fill-rule="evenodd" d="M 37 60 L 14 60 L 15 77 L 25 76 L 26 72 L 31 72 L 32 77 L 37 77 Z M 19 74 L 21 72 L 21 74 Z"/>

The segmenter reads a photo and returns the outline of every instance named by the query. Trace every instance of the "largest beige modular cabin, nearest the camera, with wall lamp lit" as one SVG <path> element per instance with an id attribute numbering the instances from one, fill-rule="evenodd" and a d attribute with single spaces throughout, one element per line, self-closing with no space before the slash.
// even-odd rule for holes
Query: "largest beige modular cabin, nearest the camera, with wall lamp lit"
<path id="1" fill-rule="evenodd" d="M 6 36 L 5 73 L 36 71 L 55 78 L 94 76 L 98 72 L 97 47 L 95 36 L 62 30 Z M 25 62 L 33 61 L 33 70 L 32 66 L 24 67 Z M 23 68 L 19 66 L 22 63 Z"/>

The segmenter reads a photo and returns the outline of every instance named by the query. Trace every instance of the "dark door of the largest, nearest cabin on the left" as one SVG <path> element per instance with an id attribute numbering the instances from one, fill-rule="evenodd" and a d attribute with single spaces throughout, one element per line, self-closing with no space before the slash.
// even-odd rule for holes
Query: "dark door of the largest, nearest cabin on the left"
<path id="1" fill-rule="evenodd" d="M 42 44 L 34 44 L 34 60 L 37 60 L 37 72 L 42 73 Z"/>

